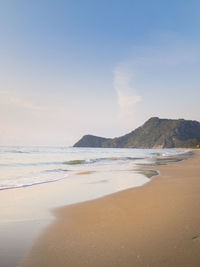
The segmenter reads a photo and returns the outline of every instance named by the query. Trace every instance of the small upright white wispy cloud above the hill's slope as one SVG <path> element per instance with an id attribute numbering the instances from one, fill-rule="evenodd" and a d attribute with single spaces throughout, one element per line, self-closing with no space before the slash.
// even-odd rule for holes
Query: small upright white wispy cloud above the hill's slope
<path id="1" fill-rule="evenodd" d="M 120 118 L 133 115 L 135 105 L 141 101 L 134 87 L 134 71 L 127 67 L 118 67 L 114 70 L 114 88 L 120 108 Z"/>

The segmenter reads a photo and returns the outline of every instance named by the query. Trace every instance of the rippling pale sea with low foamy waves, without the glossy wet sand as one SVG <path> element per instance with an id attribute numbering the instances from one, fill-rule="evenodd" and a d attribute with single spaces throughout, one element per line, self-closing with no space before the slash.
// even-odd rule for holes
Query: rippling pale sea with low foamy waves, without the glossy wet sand
<path id="1" fill-rule="evenodd" d="M 155 165 L 158 159 L 186 152 L 180 149 L 1 146 L 0 190 L 75 180 L 80 179 L 80 175 L 87 176 L 87 184 L 109 183 L 116 177 L 122 190 L 149 181 L 151 175 L 142 172 L 141 166 Z"/>

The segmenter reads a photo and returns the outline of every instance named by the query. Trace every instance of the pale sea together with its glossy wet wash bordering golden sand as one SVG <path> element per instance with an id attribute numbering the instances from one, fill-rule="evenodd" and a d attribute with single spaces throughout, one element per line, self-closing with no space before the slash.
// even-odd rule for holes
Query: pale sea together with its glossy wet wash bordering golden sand
<path id="1" fill-rule="evenodd" d="M 152 166 L 183 160 L 187 153 L 179 149 L 1 146 L 0 265 L 20 264 L 55 219 L 56 208 L 142 186 L 158 174 Z"/>

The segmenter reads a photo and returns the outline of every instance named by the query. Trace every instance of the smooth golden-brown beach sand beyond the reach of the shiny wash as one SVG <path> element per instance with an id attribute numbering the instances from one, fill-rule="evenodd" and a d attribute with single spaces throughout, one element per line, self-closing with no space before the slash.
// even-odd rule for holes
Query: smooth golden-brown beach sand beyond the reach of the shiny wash
<path id="1" fill-rule="evenodd" d="M 199 267 L 200 151 L 149 184 L 56 210 L 26 267 Z"/>

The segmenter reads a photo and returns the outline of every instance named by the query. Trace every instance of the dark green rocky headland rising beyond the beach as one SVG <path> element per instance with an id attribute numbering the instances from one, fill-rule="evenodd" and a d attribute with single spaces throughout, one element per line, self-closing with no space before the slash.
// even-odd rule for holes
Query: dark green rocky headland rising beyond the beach
<path id="1" fill-rule="evenodd" d="M 153 117 L 134 131 L 116 138 L 83 136 L 74 147 L 173 148 L 198 147 L 200 123 L 191 120 L 169 120 Z"/>

